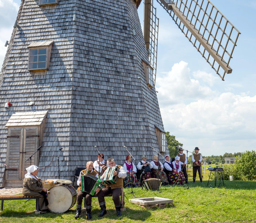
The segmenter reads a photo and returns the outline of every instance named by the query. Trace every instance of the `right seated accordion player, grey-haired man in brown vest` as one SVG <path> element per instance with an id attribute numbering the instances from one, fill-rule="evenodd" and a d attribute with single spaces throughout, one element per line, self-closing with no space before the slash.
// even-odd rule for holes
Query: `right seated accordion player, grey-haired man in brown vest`
<path id="1" fill-rule="evenodd" d="M 122 213 L 121 213 L 120 195 L 122 192 L 122 188 L 124 187 L 123 178 L 125 178 L 127 174 L 124 170 L 124 167 L 115 165 L 115 160 L 113 158 L 107 159 L 107 164 L 109 167 L 117 167 L 119 169 L 119 172 L 117 171 L 113 172 L 113 176 L 116 176 L 118 174 L 118 178 L 115 184 L 109 184 L 103 187 L 98 193 L 98 201 L 102 210 L 101 213 L 98 215 L 98 217 L 102 217 L 104 214 L 106 214 L 105 196 L 110 193 L 112 193 L 112 200 L 115 204 L 116 215 L 121 216 Z M 104 179 L 105 174 L 106 174 L 106 171 L 103 173 L 101 179 Z"/>

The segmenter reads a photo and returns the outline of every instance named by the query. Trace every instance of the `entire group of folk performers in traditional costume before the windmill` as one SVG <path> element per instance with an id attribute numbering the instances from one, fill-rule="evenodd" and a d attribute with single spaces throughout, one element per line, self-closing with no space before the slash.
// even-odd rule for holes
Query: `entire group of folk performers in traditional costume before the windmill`
<path id="1" fill-rule="evenodd" d="M 163 184 L 184 184 L 187 183 L 187 157 L 183 154 L 183 149 L 179 149 L 178 155 L 175 159 L 170 160 L 170 156 L 165 156 L 165 162 L 161 163 L 158 160 L 158 156 L 154 155 L 151 162 L 147 161 L 147 156 L 143 155 L 137 167 L 132 163 L 131 155 L 126 156 L 126 162 L 124 167 L 116 165 L 113 158 L 104 160 L 104 155 L 101 153 L 98 155 L 98 159 L 93 163 L 88 161 L 86 163 L 86 169 L 80 172 L 79 178 L 77 180 L 78 193 L 76 199 L 76 214 L 75 219 L 79 218 L 82 209 L 83 197 L 85 197 L 86 202 L 86 214 L 87 219 L 92 218 L 91 214 L 91 205 L 92 205 L 92 196 L 81 190 L 81 176 L 82 175 L 93 175 L 100 176 L 101 179 L 104 179 L 106 168 L 107 167 L 117 167 L 118 172 L 114 171 L 113 176 L 118 176 L 115 184 L 109 184 L 103 186 L 101 189 L 96 189 L 96 194 L 98 197 L 98 202 L 101 208 L 101 213 L 98 217 L 102 217 L 106 214 L 106 203 L 105 197 L 108 194 L 112 194 L 112 200 L 115 204 L 117 216 L 121 216 L 121 201 L 120 195 L 124 184 L 126 186 L 138 186 L 143 180 L 150 178 L 159 178 L 163 180 Z M 200 182 L 202 182 L 202 173 L 201 173 L 201 162 L 202 154 L 199 153 L 199 148 L 195 147 L 195 154 L 192 155 L 193 162 L 193 183 L 195 182 L 196 173 L 199 172 Z M 39 197 L 39 208 L 40 212 L 46 212 L 48 201 L 47 201 L 47 192 L 48 190 L 43 188 L 42 181 L 37 177 L 39 169 L 35 165 L 31 165 L 26 168 L 26 175 L 23 180 L 23 189 L 22 193 L 24 195 Z"/>

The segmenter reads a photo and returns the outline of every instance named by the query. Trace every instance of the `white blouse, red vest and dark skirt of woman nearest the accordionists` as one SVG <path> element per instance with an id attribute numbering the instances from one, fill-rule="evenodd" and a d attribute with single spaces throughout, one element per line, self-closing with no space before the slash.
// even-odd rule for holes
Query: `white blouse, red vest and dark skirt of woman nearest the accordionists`
<path id="1" fill-rule="evenodd" d="M 137 179 L 136 173 L 137 173 L 137 168 L 134 163 L 126 161 L 124 163 L 124 170 L 127 174 L 127 176 L 124 178 L 124 187 L 131 187 L 131 184 L 133 187 L 138 187 L 140 186 L 140 183 Z"/>

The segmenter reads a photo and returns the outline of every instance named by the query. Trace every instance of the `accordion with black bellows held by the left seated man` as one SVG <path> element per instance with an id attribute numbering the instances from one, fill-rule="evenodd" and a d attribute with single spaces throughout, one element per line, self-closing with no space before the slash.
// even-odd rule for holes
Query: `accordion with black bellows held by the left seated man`
<path id="1" fill-rule="evenodd" d="M 82 175 L 81 176 L 81 187 L 82 192 L 89 193 L 90 195 L 94 195 L 96 189 L 100 186 L 102 180 L 98 179 L 93 175 Z"/>

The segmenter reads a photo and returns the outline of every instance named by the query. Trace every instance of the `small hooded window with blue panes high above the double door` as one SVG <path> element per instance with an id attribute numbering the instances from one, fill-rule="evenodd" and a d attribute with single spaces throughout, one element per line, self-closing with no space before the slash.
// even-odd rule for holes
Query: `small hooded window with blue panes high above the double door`
<path id="1" fill-rule="evenodd" d="M 49 67 L 53 41 L 31 43 L 29 48 L 28 70 L 47 70 Z"/>

